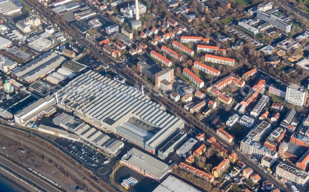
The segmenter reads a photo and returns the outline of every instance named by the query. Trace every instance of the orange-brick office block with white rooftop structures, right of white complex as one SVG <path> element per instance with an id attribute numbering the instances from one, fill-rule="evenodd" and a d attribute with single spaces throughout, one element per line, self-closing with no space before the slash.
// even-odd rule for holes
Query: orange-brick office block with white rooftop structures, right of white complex
<path id="1" fill-rule="evenodd" d="M 264 146 L 270 148 L 273 151 L 277 151 L 279 143 L 282 143 L 282 140 L 286 134 L 286 130 L 283 128 L 276 128 L 266 139 Z"/>

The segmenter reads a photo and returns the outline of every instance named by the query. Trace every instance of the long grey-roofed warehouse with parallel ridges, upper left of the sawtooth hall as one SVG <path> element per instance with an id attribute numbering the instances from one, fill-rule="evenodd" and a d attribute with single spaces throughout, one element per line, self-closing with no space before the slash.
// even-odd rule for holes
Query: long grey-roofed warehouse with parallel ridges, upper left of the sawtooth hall
<path id="1" fill-rule="evenodd" d="M 11 74 L 13 77 L 29 83 L 50 73 L 65 61 L 66 59 L 63 56 L 54 52 L 46 52 L 21 68 L 14 70 Z"/>

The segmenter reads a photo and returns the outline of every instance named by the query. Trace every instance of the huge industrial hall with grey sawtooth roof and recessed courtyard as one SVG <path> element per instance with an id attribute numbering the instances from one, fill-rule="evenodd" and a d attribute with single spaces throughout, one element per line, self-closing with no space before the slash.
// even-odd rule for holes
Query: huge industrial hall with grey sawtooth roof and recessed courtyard
<path id="1" fill-rule="evenodd" d="M 94 71 L 76 77 L 54 96 L 60 108 L 152 153 L 184 127 L 184 121 L 136 88 Z"/>

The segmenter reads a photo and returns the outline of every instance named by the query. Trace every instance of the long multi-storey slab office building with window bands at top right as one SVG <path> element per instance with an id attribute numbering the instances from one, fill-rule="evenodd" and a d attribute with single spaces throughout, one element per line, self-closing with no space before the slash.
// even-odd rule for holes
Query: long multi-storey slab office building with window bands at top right
<path id="1" fill-rule="evenodd" d="M 287 23 L 283 21 L 282 19 L 276 17 L 275 15 L 272 15 L 270 13 L 267 13 L 265 11 L 257 11 L 258 19 L 261 19 L 263 21 L 269 22 L 273 24 L 274 27 L 277 27 L 278 29 L 281 29 L 282 31 L 286 33 L 290 33 L 292 25 L 290 23 Z"/>

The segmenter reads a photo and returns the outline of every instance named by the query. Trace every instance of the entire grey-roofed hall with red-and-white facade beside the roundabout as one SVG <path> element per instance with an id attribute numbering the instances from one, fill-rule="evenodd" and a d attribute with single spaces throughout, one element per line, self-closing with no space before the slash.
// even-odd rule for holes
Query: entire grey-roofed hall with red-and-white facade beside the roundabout
<path id="1" fill-rule="evenodd" d="M 136 148 L 132 148 L 127 155 L 121 158 L 121 164 L 156 182 L 162 182 L 171 172 L 174 165 L 168 166 Z"/>

